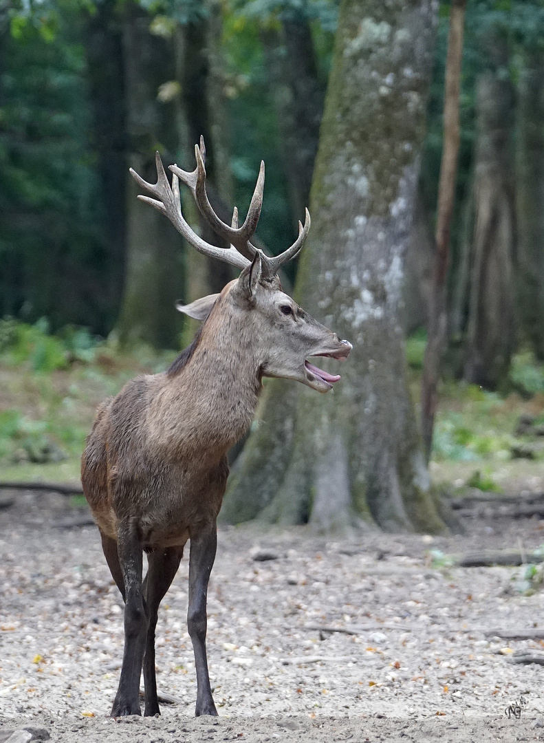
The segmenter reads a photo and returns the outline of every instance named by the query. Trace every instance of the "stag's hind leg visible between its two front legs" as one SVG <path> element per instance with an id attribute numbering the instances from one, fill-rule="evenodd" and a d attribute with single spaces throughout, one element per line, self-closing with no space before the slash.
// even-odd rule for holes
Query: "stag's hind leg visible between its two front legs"
<path id="1" fill-rule="evenodd" d="M 146 707 L 144 716 L 160 715 L 155 680 L 155 627 L 158 608 L 168 591 L 183 557 L 183 547 L 159 549 L 148 555 L 149 569 L 144 581 L 149 626 L 147 628 L 146 652 L 143 656 L 143 683 L 146 687 Z"/>

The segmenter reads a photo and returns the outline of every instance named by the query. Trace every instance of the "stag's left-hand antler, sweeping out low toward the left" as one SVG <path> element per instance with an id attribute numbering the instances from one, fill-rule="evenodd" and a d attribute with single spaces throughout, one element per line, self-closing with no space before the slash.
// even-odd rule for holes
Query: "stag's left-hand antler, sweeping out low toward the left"
<path id="1" fill-rule="evenodd" d="M 205 256 L 210 256 L 212 258 L 218 258 L 220 261 L 236 266 L 236 268 L 245 268 L 250 263 L 250 260 L 239 253 L 239 250 L 236 250 L 236 247 L 217 247 L 216 245 L 212 245 L 201 239 L 201 237 L 191 229 L 189 224 L 185 221 L 184 215 L 181 213 L 181 198 L 178 181 L 178 170 L 180 169 L 177 168 L 176 172 L 172 175 L 172 186 L 170 186 L 168 178 L 166 177 L 166 172 L 163 168 L 161 156 L 158 152 L 155 154 L 155 163 L 157 165 L 156 184 L 147 183 L 147 181 L 144 181 L 135 170 L 132 168 L 130 169 L 132 177 L 135 179 L 136 183 L 141 186 L 141 188 L 146 189 L 146 191 L 149 191 L 149 193 L 157 197 L 149 198 L 149 196 L 140 195 L 138 198 L 140 198 L 141 201 L 146 201 L 148 204 L 151 204 L 152 207 L 155 207 L 155 209 L 166 215 L 176 230 L 178 230 L 187 242 L 191 244 L 192 247 L 195 247 L 199 253 L 204 253 Z M 183 170 L 180 172 L 184 175 L 192 175 L 190 173 L 185 173 Z M 184 178 L 182 178 L 182 180 L 184 180 Z"/>

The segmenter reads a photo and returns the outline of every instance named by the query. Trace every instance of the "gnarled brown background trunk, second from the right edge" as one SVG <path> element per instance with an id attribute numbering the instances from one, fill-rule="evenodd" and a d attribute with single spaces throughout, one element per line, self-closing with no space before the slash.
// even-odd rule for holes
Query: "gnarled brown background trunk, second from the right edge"
<path id="1" fill-rule="evenodd" d="M 499 44 L 499 42 L 496 42 Z M 496 48 L 505 68 L 505 51 Z M 499 65 L 497 65 L 498 67 Z M 504 74 L 482 73 L 476 86 L 474 232 L 464 379 L 496 389 L 515 348 L 513 94 Z"/>

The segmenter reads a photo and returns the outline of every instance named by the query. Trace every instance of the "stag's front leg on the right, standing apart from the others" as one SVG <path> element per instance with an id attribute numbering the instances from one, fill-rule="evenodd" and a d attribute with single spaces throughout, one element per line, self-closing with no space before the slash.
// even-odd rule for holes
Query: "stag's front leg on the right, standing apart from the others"
<path id="1" fill-rule="evenodd" d="M 217 715 L 213 704 L 208 661 L 206 658 L 206 599 L 208 581 L 216 559 L 217 531 L 216 525 L 210 531 L 191 536 L 189 557 L 189 608 L 187 610 L 187 629 L 195 652 L 196 666 L 196 709 L 195 717 Z"/>

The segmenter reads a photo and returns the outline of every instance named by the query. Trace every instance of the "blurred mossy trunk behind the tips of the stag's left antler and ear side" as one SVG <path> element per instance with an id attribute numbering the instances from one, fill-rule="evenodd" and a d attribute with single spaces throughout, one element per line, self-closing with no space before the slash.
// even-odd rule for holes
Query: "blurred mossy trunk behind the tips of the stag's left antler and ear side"
<path id="1" fill-rule="evenodd" d="M 155 150 L 177 149 L 174 105 L 158 100 L 160 86 L 174 77 L 169 45 L 149 33 L 149 16 L 129 8 L 123 28 L 129 164 L 152 183 Z M 175 348 L 181 332 L 174 308 L 183 276 L 181 239 L 163 215 L 137 201 L 137 186 L 126 177 L 127 268 L 119 340 Z"/>

